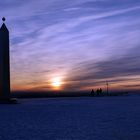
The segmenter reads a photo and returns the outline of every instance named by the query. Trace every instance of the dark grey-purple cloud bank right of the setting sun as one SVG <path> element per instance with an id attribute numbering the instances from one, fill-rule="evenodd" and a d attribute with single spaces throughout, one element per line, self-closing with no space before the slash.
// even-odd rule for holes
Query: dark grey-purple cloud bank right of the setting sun
<path id="1" fill-rule="evenodd" d="M 76 88 L 103 86 L 106 81 L 113 84 L 123 83 L 125 87 L 131 81 L 130 87 L 135 87 L 140 78 L 140 53 L 137 52 L 138 47 L 130 50 L 128 54 L 119 59 L 110 59 L 101 62 L 83 62 L 77 64 L 69 74 L 68 81 L 74 85 L 67 85 Z M 135 52 L 135 53 L 133 53 Z M 138 79 L 137 79 L 138 78 Z"/>

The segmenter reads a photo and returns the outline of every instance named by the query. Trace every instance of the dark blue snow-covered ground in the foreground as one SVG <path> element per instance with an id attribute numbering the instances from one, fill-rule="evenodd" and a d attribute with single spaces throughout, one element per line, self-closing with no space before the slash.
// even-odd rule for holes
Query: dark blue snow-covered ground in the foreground
<path id="1" fill-rule="evenodd" d="M 19 102 L 0 105 L 0 140 L 140 140 L 140 96 Z"/>

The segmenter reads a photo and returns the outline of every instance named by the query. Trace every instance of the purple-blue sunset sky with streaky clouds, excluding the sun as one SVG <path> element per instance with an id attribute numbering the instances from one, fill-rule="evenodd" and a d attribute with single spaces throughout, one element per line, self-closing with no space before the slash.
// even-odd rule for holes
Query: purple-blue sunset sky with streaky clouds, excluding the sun
<path id="1" fill-rule="evenodd" d="M 4 0 L 11 89 L 140 89 L 139 0 Z"/>

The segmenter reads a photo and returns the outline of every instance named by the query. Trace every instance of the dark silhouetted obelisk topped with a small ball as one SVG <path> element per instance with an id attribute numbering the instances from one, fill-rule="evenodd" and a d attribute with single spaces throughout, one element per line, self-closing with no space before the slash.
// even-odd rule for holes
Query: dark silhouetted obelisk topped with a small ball
<path id="1" fill-rule="evenodd" d="M 0 100 L 10 99 L 9 31 L 4 23 L 0 28 Z"/>

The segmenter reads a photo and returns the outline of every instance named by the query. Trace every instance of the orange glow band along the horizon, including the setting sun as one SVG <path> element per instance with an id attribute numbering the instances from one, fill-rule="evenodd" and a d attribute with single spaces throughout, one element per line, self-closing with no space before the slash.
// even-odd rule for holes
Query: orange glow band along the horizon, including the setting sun
<path id="1" fill-rule="evenodd" d="M 62 74 L 52 74 L 51 76 L 44 77 L 42 81 L 32 82 L 33 79 L 15 80 L 11 82 L 11 91 L 53 91 L 53 90 L 66 90 L 66 91 L 90 91 L 102 88 L 106 91 L 106 79 L 97 80 L 97 84 L 92 84 L 92 80 L 89 85 L 80 85 L 80 81 L 68 81 Z M 122 80 L 123 79 L 123 80 Z M 109 81 L 109 90 L 139 90 L 140 89 L 140 76 L 124 76 L 107 79 Z M 86 83 L 86 81 L 84 81 Z M 71 88 L 78 85 L 79 88 Z"/>

